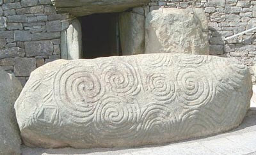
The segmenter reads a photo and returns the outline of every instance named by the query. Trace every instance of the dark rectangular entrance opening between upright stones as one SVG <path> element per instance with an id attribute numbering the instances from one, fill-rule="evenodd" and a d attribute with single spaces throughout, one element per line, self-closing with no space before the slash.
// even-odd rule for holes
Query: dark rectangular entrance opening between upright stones
<path id="1" fill-rule="evenodd" d="M 87 15 L 79 20 L 82 26 L 83 59 L 120 55 L 118 14 Z"/>

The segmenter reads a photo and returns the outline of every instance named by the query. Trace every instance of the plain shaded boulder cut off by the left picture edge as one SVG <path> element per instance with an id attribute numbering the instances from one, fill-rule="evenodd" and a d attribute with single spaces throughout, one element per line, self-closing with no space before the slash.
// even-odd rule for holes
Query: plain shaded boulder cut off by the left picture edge
<path id="1" fill-rule="evenodd" d="M 14 103 L 22 86 L 12 74 L 0 68 L 0 154 L 20 154 L 20 135 Z"/>

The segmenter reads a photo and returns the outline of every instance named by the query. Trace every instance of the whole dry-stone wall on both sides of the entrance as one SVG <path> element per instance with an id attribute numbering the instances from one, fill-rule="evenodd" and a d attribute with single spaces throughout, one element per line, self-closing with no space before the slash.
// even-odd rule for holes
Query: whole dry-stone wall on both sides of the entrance
<path id="1" fill-rule="evenodd" d="M 145 10 L 160 7 L 203 8 L 209 20 L 211 55 L 235 57 L 247 66 L 255 64 L 256 31 L 228 41 L 224 38 L 256 26 L 256 1 L 151 1 Z M 56 13 L 51 0 L 0 0 L 0 66 L 25 84 L 35 68 L 60 59 L 61 31 L 71 19 Z"/>

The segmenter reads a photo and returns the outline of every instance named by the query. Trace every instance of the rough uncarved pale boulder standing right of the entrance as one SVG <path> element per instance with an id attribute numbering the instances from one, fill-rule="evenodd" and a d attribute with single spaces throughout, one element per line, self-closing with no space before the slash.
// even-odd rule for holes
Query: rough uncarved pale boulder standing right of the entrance
<path id="1" fill-rule="evenodd" d="M 202 9 L 150 11 L 145 27 L 145 53 L 209 54 L 207 19 Z"/>

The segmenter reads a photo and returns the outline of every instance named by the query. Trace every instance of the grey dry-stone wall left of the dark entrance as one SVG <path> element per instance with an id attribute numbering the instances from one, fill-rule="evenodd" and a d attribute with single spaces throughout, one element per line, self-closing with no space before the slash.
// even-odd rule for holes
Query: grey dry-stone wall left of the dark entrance
<path id="1" fill-rule="evenodd" d="M 60 59 L 67 16 L 51 0 L 0 0 L 0 66 L 24 85 L 31 71 Z"/>

